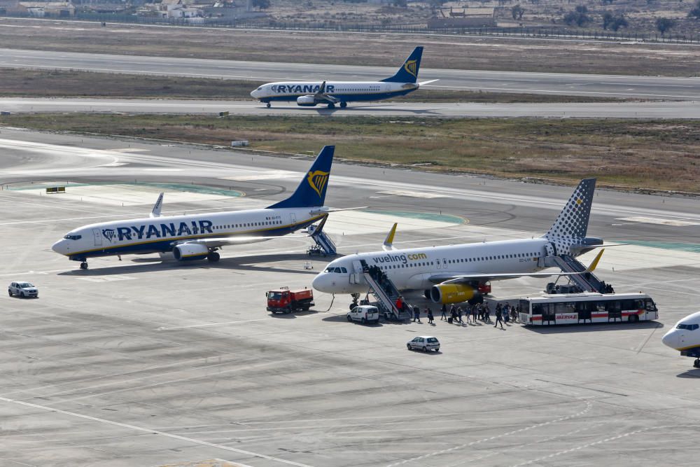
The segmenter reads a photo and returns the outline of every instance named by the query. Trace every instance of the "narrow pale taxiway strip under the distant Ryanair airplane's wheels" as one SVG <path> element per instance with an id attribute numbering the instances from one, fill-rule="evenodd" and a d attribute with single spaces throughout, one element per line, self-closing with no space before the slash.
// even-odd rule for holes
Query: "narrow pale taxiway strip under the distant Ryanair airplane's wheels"
<path id="1" fill-rule="evenodd" d="M 659 118 L 697 119 L 696 102 L 624 102 L 596 104 L 474 104 L 430 102 L 380 102 L 349 104 L 346 109 L 326 106 L 300 107 L 292 103 L 185 99 L 18 99 L 0 98 L 0 111 L 10 113 L 200 113 L 228 111 L 255 116 L 405 116 L 405 117 L 541 117 L 541 118 Z M 0 120 L 1 121 L 1 120 Z"/>

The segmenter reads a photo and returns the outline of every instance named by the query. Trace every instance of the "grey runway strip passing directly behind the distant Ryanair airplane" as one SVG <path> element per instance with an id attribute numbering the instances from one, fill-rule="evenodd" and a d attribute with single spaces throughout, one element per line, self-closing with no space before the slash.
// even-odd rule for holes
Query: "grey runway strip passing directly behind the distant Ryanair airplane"
<path id="1" fill-rule="evenodd" d="M 395 73 L 394 67 L 328 64 L 237 62 L 197 58 L 144 57 L 48 52 L 0 48 L 0 67 L 73 69 L 105 73 L 197 76 L 255 83 L 269 81 L 372 81 Z M 700 100 L 700 77 L 614 76 L 512 71 L 421 69 L 420 81 L 440 79 L 427 89 L 526 94 Z"/>

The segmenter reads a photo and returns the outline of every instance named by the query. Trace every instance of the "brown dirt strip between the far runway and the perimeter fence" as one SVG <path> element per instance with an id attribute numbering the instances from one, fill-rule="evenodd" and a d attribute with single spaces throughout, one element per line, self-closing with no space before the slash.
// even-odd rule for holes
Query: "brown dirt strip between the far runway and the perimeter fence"
<path id="1" fill-rule="evenodd" d="M 3 48 L 262 62 L 400 65 L 582 74 L 698 76 L 700 47 L 429 34 L 288 32 L 0 18 Z"/>

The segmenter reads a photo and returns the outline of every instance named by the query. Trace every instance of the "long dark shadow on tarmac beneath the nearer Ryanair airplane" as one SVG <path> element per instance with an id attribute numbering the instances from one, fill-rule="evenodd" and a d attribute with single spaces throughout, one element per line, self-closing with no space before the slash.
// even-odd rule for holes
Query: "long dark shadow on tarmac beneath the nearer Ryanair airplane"
<path id="1" fill-rule="evenodd" d="M 125 260 L 127 265 L 119 266 L 107 266 L 107 267 L 95 267 L 93 269 L 87 270 L 72 270 L 66 272 L 59 272 L 59 276 L 76 276 L 76 277 L 90 277 L 90 276 L 107 276 L 114 274 L 136 274 L 139 272 L 154 272 L 161 270 L 188 270 L 188 269 L 213 269 L 213 270 L 232 270 L 238 271 L 241 274 L 244 272 L 291 272 L 297 274 L 307 274 L 309 276 L 315 276 L 318 274 L 319 270 L 306 270 L 304 269 L 304 263 L 309 260 L 309 256 L 304 253 L 291 253 L 291 254 L 274 254 L 274 255 L 260 255 L 260 256 L 241 256 L 234 258 L 221 258 L 216 263 L 209 263 L 207 260 L 202 261 L 188 261 L 187 263 L 181 263 L 175 260 L 164 260 L 158 261 L 157 259 L 151 258 L 134 258 L 132 260 Z M 298 261 L 299 267 L 290 267 L 289 269 L 283 267 L 265 267 L 260 265 L 261 263 L 279 263 L 280 261 Z M 128 264 L 132 263 L 132 264 Z M 144 264 L 139 264 L 144 263 Z M 250 264 L 254 263 L 254 264 Z"/>

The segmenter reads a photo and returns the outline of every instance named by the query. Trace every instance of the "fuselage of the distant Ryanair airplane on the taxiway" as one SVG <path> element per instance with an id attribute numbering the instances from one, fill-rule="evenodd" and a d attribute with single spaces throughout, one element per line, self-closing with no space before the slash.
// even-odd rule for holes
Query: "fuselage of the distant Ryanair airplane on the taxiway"
<path id="1" fill-rule="evenodd" d="M 260 86 L 251 92 L 251 97 L 260 102 L 296 102 L 299 97 L 314 95 L 320 87 L 318 81 L 280 81 Z M 407 95 L 418 88 L 418 83 L 328 81 L 325 94 L 340 102 L 379 101 Z"/>

